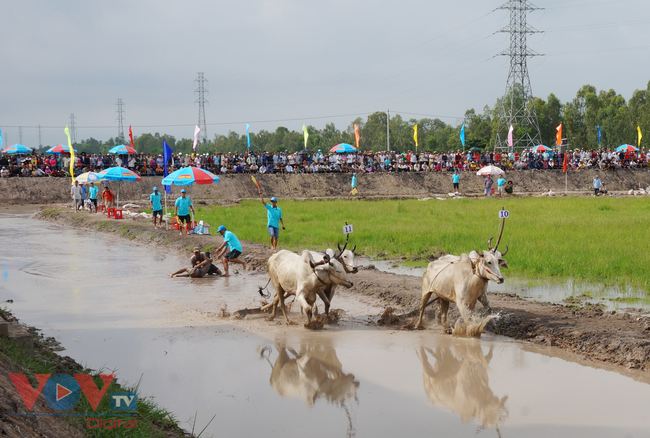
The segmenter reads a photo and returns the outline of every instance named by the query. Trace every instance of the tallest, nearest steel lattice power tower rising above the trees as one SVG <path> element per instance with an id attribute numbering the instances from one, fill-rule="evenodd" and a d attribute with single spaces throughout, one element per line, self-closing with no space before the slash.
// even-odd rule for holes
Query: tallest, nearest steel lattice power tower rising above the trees
<path id="1" fill-rule="evenodd" d="M 529 34 L 540 31 L 526 24 L 528 12 L 541 8 L 528 0 L 509 0 L 497 9 L 510 11 L 510 24 L 499 32 L 510 34 L 510 48 L 498 56 L 510 57 L 510 72 L 506 83 L 506 94 L 498 107 L 499 127 L 494 143 L 498 151 L 510 150 L 508 131 L 512 126 L 519 136 L 513 133 L 512 149 L 528 149 L 541 144 L 539 122 L 533 99 L 533 89 L 528 77 L 528 58 L 541 56 L 530 50 L 526 44 Z"/>

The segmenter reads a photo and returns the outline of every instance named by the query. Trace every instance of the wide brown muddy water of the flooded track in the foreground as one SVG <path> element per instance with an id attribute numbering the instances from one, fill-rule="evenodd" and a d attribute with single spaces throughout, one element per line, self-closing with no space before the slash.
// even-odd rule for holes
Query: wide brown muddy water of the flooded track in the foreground
<path id="1" fill-rule="evenodd" d="M 216 415 L 208 436 L 650 437 L 647 373 L 498 337 L 376 330 L 365 321 L 379 307 L 349 294 L 321 332 L 222 319 L 258 303 L 265 277 L 172 280 L 186 260 L 25 216 L 0 215 L 0 247 L 0 301 L 23 322 L 141 379 L 182 421 Z"/>

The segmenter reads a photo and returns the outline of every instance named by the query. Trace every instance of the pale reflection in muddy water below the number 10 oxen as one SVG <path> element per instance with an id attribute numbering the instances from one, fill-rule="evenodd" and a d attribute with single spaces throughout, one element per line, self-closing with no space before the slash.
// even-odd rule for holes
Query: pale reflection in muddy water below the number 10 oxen
<path id="1" fill-rule="evenodd" d="M 497 428 L 508 416 L 506 400 L 490 388 L 488 365 L 493 348 L 483 353 L 478 340 L 441 339 L 434 349 L 420 347 L 424 391 L 433 405 L 451 409 L 463 422 L 476 419 Z"/>

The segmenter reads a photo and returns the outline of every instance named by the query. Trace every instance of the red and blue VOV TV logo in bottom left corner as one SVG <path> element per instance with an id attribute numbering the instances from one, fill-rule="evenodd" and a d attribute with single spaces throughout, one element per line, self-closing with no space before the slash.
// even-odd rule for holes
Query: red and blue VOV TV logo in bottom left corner
<path id="1" fill-rule="evenodd" d="M 38 396 L 43 394 L 45 401 L 57 411 L 67 411 L 74 407 L 84 394 L 93 411 L 97 410 L 108 388 L 115 379 L 115 374 L 100 374 L 104 385 L 102 389 L 95 384 L 88 374 L 35 374 L 38 386 L 33 388 L 24 374 L 9 374 L 18 394 L 28 410 L 32 410 Z M 135 392 L 110 393 L 112 411 L 135 411 L 138 407 L 138 395 Z M 37 414 L 34 414 L 37 415 Z M 111 414 L 112 415 L 112 414 Z"/>

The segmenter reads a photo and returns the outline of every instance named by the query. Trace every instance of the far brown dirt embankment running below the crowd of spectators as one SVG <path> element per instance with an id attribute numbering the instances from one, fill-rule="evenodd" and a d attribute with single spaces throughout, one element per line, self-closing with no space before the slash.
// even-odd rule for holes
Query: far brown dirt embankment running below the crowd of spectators
<path id="1" fill-rule="evenodd" d="M 572 194 L 592 191 L 592 180 L 598 173 L 610 191 L 628 191 L 650 186 L 647 170 L 615 172 L 571 171 L 567 173 L 567 189 Z M 452 191 L 449 173 L 397 172 L 357 175 L 362 198 L 418 198 L 446 195 Z M 515 194 L 541 194 L 553 190 L 563 194 L 565 178 L 561 171 L 519 170 L 506 174 L 512 180 Z M 257 198 L 257 187 L 250 175 L 223 175 L 218 184 L 192 187 L 192 196 L 208 202 Z M 256 175 L 265 193 L 284 199 L 317 199 L 346 196 L 350 191 L 349 174 Z M 141 182 L 120 184 L 120 202 L 148 202 L 153 186 L 161 185 L 161 177 L 143 177 Z M 117 191 L 117 183 L 110 187 Z M 483 191 L 483 179 L 472 172 L 461 175 L 463 194 L 477 195 Z M 180 188 L 172 187 L 172 199 Z M 2 178 L 0 204 L 51 204 L 70 200 L 68 178 Z"/>

